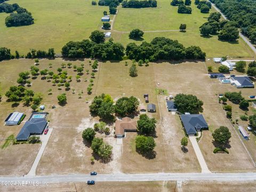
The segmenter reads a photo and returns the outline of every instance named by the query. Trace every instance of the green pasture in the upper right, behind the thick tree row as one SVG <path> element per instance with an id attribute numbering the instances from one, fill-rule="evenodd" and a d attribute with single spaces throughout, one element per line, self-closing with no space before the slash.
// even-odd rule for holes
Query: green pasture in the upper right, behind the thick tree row
<path id="1" fill-rule="evenodd" d="M 139 28 L 143 31 L 155 31 L 154 33 L 145 33 L 143 38 L 150 42 L 154 37 L 167 37 L 178 40 L 185 46 L 196 45 L 206 52 L 206 57 L 222 57 L 228 55 L 230 57 L 255 57 L 255 54 L 239 38 L 238 43 L 221 42 L 218 36 L 214 35 L 210 38 L 204 38 L 200 35 L 199 27 L 207 21 L 209 14 L 201 13 L 196 8 L 194 1 L 191 4 L 192 14 L 178 13 L 177 6 L 171 6 L 170 1 L 158 0 L 157 8 L 145 9 L 125 9 L 120 7 L 115 19 L 114 29 L 118 31 L 131 31 Z M 212 7 L 210 12 L 215 12 Z M 186 33 L 179 31 L 164 31 L 159 30 L 178 30 L 181 23 L 187 24 Z M 121 42 L 124 45 L 135 42 L 140 44 L 140 41 L 129 39 L 129 33 L 112 34 L 115 41 Z"/>

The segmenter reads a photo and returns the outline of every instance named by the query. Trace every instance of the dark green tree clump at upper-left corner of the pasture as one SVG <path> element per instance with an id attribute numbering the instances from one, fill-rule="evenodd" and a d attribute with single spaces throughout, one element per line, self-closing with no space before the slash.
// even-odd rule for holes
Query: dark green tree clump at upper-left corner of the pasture
<path id="1" fill-rule="evenodd" d="M 16 13 L 13 13 L 14 11 L 16 11 Z M 20 7 L 17 3 L 0 4 L 0 12 L 11 13 L 5 18 L 6 27 L 27 26 L 34 24 L 34 18 L 32 17 L 31 13 L 23 7 Z"/>

